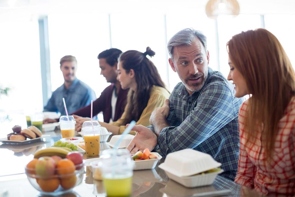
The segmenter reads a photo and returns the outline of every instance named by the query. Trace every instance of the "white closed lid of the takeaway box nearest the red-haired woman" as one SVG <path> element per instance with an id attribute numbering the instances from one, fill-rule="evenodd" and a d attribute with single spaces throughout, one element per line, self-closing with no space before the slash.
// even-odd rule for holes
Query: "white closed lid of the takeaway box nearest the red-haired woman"
<path id="1" fill-rule="evenodd" d="M 221 163 L 215 161 L 211 155 L 193 149 L 169 153 L 165 161 L 159 165 L 160 168 L 178 177 L 195 175 L 219 166 Z"/>

